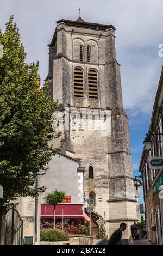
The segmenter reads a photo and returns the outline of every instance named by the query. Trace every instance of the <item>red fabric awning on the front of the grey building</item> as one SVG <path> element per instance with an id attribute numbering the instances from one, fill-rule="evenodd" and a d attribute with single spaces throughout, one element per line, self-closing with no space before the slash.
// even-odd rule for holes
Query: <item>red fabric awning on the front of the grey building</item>
<path id="1" fill-rule="evenodd" d="M 55 209 L 56 218 L 84 218 L 82 204 L 58 204 Z M 53 205 L 41 205 L 41 218 L 53 218 Z"/>

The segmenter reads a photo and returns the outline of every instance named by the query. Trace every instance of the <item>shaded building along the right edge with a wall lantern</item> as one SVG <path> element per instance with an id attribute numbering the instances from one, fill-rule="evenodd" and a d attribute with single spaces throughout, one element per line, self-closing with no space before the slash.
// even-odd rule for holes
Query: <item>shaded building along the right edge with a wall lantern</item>
<path id="1" fill-rule="evenodd" d="M 151 149 L 144 147 L 140 162 L 140 172 L 143 178 L 143 192 L 146 205 L 146 224 L 148 239 L 153 245 L 163 243 L 163 168 L 149 166 L 149 157 L 163 156 L 163 70 L 156 92 L 148 139 Z"/>

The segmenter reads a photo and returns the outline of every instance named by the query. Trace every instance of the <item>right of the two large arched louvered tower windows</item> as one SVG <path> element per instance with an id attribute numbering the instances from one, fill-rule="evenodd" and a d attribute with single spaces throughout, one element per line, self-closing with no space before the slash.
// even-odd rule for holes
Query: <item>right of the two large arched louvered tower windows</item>
<path id="1" fill-rule="evenodd" d="M 88 72 L 88 87 L 89 87 L 89 98 L 98 98 L 98 80 L 97 72 L 95 70 L 89 70 Z"/>

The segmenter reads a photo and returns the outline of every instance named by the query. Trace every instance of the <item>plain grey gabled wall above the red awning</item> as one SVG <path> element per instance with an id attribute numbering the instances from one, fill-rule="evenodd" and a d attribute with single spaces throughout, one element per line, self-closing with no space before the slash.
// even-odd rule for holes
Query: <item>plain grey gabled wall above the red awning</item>
<path id="1" fill-rule="evenodd" d="M 57 189 L 66 192 L 70 203 L 84 205 L 84 168 L 80 170 L 78 160 L 57 154 L 48 163 L 48 170 L 41 177 L 41 186 L 46 191 L 41 193 L 41 204 L 45 204 L 45 196 Z"/>

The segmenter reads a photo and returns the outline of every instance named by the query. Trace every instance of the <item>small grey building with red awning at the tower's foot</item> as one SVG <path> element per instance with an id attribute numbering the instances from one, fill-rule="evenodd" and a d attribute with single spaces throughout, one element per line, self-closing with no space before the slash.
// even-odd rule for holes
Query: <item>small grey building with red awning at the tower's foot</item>
<path id="1" fill-rule="evenodd" d="M 41 186 L 46 191 L 41 193 L 41 223 L 53 223 L 53 205 L 46 204 L 46 194 L 54 190 L 64 191 L 64 202 L 57 204 L 55 217 L 62 225 L 83 224 L 89 217 L 84 212 L 84 170 L 81 160 L 75 160 L 62 153 L 52 157 L 48 170 L 41 177 Z"/>

